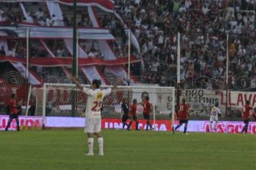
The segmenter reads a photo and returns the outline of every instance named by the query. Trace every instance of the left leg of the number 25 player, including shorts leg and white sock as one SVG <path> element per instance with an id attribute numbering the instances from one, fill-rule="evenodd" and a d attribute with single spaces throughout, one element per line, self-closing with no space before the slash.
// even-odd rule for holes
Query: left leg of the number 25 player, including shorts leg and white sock
<path id="1" fill-rule="evenodd" d="M 87 118 L 84 132 L 87 133 L 88 153 L 87 156 L 94 156 L 94 120 Z"/>

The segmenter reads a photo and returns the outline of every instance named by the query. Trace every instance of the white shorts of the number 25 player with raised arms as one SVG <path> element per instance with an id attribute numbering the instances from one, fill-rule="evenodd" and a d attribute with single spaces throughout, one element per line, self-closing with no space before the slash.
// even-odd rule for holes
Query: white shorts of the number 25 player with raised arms
<path id="1" fill-rule="evenodd" d="M 85 133 L 98 133 L 101 130 L 101 118 L 86 118 Z"/>

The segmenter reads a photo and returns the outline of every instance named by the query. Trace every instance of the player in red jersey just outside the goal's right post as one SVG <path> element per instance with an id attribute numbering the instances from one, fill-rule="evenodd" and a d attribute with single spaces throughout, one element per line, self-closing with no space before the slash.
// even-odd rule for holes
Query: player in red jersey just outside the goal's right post
<path id="1" fill-rule="evenodd" d="M 175 130 L 181 127 L 182 123 L 185 123 L 184 134 L 187 134 L 186 131 L 189 123 L 189 107 L 189 104 L 185 103 L 185 98 L 182 98 L 182 104 L 179 105 L 179 125 L 177 125 Z M 172 130 L 173 134 L 175 130 Z"/>

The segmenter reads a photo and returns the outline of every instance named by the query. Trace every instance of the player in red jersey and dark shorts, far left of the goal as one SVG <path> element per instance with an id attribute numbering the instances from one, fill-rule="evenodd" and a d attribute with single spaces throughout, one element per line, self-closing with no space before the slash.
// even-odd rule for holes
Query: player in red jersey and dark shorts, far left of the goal
<path id="1" fill-rule="evenodd" d="M 9 120 L 8 120 L 8 124 L 7 127 L 5 128 L 5 131 L 8 130 L 8 127 L 11 124 L 11 120 L 15 119 L 16 123 L 17 123 L 17 130 L 19 131 L 19 121 L 18 121 L 18 109 L 17 109 L 17 102 L 16 102 L 16 96 L 15 94 L 11 95 L 11 101 L 9 103 L 10 106 L 10 114 L 9 114 Z"/>

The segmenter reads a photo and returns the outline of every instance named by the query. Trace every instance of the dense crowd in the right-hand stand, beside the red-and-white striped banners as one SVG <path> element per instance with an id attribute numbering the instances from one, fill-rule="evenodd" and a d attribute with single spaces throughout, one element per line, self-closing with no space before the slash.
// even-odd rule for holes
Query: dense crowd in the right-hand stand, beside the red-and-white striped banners
<path id="1" fill-rule="evenodd" d="M 208 77 L 199 83 L 200 88 L 221 88 L 228 34 L 230 85 L 238 88 L 235 83 L 241 84 L 239 78 L 245 76 L 249 78 L 248 85 L 256 87 L 254 1 L 116 2 L 120 6 L 117 11 L 139 40 L 145 82 L 173 85 L 177 69 L 176 35 L 180 32 L 181 79 L 188 82 L 183 84 L 185 88 L 192 88 L 189 82 L 200 76 Z"/>

